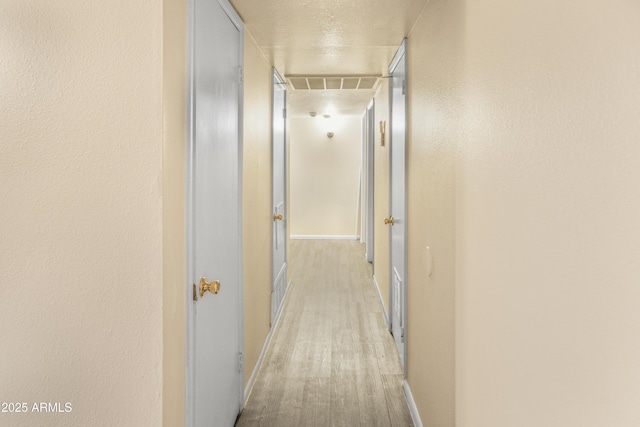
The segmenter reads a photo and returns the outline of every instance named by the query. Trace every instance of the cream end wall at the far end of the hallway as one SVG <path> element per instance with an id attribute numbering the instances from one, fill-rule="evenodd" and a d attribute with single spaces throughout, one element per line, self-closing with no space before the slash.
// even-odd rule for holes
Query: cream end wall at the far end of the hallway
<path id="1" fill-rule="evenodd" d="M 355 236 L 361 118 L 292 117 L 289 122 L 291 235 Z M 329 131 L 333 138 L 327 137 Z"/>

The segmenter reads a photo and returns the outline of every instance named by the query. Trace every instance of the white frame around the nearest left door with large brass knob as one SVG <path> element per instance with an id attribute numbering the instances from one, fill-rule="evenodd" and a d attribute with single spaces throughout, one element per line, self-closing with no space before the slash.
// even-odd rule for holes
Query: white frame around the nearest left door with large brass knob
<path id="1" fill-rule="evenodd" d="M 235 11 L 229 0 L 210 0 L 217 1 L 227 17 L 239 32 L 239 69 L 238 69 L 238 209 L 242 212 L 242 175 L 243 175 L 243 111 L 244 111 L 244 23 L 240 15 Z M 193 283 L 191 278 L 194 277 L 194 157 L 195 157 L 195 7 L 196 0 L 187 0 L 187 126 L 186 126 L 186 277 L 185 277 L 185 313 L 186 313 L 186 331 L 185 331 L 185 426 L 195 426 L 193 411 L 194 405 L 194 389 L 195 389 L 195 366 L 193 363 L 195 353 L 195 310 L 193 301 Z M 243 277 L 243 245 L 242 245 L 242 220 L 239 221 L 238 248 L 239 248 L 239 266 L 238 266 L 238 343 L 240 348 L 238 352 L 241 354 L 241 360 L 244 355 L 244 277 Z M 238 394 L 238 414 L 244 406 L 244 363 L 240 369 L 240 387 Z"/>

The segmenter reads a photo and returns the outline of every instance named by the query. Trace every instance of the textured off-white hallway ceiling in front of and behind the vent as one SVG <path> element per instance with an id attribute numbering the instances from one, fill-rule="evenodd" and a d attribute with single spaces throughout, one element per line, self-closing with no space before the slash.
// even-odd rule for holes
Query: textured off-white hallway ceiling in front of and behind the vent
<path id="1" fill-rule="evenodd" d="M 387 67 L 427 0 L 230 0 L 278 72 L 387 75 Z M 361 115 L 366 90 L 296 91 L 289 113 Z M 374 88 L 375 89 L 375 88 Z"/>

